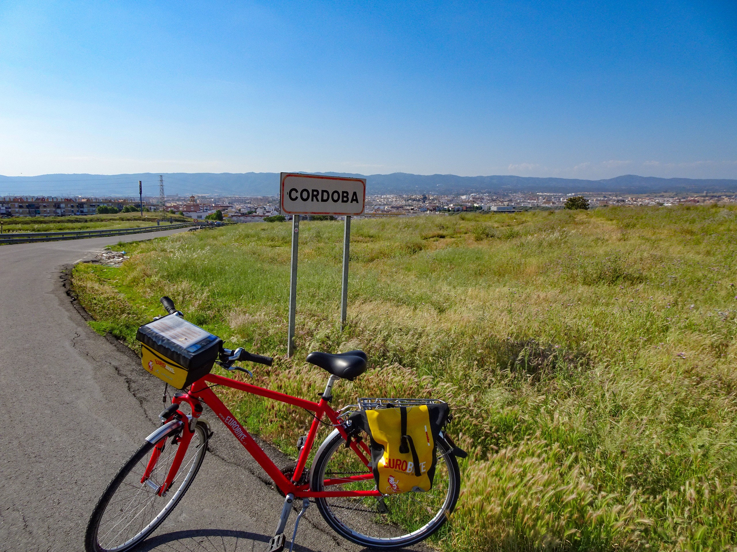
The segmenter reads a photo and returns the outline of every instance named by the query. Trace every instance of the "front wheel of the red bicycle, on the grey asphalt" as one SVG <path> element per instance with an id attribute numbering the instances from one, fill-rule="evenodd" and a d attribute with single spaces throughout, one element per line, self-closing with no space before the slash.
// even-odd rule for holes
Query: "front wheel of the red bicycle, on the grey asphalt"
<path id="1" fill-rule="evenodd" d="M 144 445 L 120 468 L 92 512 L 85 535 L 86 552 L 125 552 L 139 544 L 166 519 L 197 475 L 207 450 L 207 426 L 198 422 L 172 486 L 164 496 L 158 488 L 167 478 L 182 429 Z M 150 478 L 144 471 L 163 445 Z"/>

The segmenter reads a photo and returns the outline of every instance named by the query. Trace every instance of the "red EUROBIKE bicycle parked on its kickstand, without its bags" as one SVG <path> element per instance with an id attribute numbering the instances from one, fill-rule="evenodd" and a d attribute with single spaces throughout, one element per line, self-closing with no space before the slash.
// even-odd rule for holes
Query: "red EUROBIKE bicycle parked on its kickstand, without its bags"
<path id="1" fill-rule="evenodd" d="M 177 312 L 171 302 L 164 306 L 170 314 Z M 245 368 L 234 367 L 237 361 L 270 366 L 273 359 L 242 348 L 225 349 L 218 364 L 228 371 L 252 375 Z M 215 374 L 205 375 L 189 389 L 175 394 L 172 404 L 161 413 L 161 427 L 147 436 L 142 447 L 125 462 L 95 506 L 85 535 L 86 551 L 128 551 L 172 512 L 195 479 L 212 436 L 208 422 L 200 417 L 202 403 L 222 420 L 285 495 L 268 552 L 284 549 L 284 528 L 297 499 L 302 501 L 302 509 L 296 518 L 292 546 L 310 499 L 338 534 L 368 548 L 401 548 L 436 532 L 453 512 L 461 484 L 455 459 L 458 449 L 450 438 L 441 434 L 437 439 L 438 462 L 430 491 L 383 495 L 374 482 L 368 436 L 360 424 L 351 420 L 352 415 L 360 415 L 359 406 L 338 411 L 330 406 L 337 381 L 354 380 L 366 371 L 366 354 L 358 350 L 337 355 L 310 353 L 307 361 L 329 373 L 318 403 Z M 214 386 L 240 389 L 313 412 L 310 431 L 298 442 L 296 464 L 280 470 L 212 392 Z M 307 461 L 321 424 L 331 425 L 333 430 L 318 448 L 308 471 Z"/>

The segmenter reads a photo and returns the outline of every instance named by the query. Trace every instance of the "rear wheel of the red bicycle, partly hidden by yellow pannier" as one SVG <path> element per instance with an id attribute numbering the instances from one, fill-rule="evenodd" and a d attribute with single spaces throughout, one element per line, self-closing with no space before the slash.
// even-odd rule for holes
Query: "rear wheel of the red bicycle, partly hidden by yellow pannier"
<path id="1" fill-rule="evenodd" d="M 362 434 L 368 442 L 368 436 Z M 327 436 L 315 454 L 310 470 L 310 488 L 326 490 L 326 473 L 368 474 L 356 454 L 345 447 L 345 439 L 335 430 Z M 343 466 L 346 470 L 343 470 Z M 354 471 L 355 470 L 355 471 Z M 331 485 L 329 490 L 374 490 L 373 478 L 360 483 Z M 461 471 L 453 450 L 438 439 L 438 463 L 433 488 L 428 492 L 405 492 L 368 498 L 316 498 L 318 510 L 326 523 L 341 537 L 357 545 L 379 550 L 393 550 L 421 542 L 439 530 L 450 517 L 461 490 Z M 423 514 L 425 509 L 427 514 Z M 385 512 L 383 512 L 385 510 Z"/>

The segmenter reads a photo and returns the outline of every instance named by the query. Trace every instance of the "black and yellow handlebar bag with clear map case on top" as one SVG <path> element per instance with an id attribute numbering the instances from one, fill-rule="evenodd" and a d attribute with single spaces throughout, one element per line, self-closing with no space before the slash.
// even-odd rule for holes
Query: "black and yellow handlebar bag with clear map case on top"
<path id="1" fill-rule="evenodd" d="M 177 314 L 142 325 L 136 333 L 147 372 L 184 389 L 212 370 L 223 342 Z"/>

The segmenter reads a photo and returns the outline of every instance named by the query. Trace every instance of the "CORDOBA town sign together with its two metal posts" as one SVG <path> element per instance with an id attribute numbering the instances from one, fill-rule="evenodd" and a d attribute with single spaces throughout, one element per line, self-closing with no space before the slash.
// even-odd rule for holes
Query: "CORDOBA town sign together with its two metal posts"
<path id="1" fill-rule="evenodd" d="M 289 291 L 289 332 L 287 355 L 294 355 L 294 325 L 297 310 L 297 252 L 300 215 L 345 216 L 343 235 L 343 287 L 340 294 L 340 329 L 348 311 L 348 261 L 350 258 L 351 216 L 363 214 L 366 179 L 326 177 L 321 174 L 282 172 L 279 187 L 282 214 L 293 215 L 292 272 Z"/>

